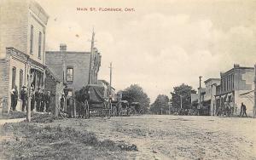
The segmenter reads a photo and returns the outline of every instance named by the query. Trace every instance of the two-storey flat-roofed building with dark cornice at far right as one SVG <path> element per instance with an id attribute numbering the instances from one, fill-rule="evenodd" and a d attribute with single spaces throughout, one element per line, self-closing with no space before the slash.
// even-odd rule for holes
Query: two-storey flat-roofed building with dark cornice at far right
<path id="1" fill-rule="evenodd" d="M 247 106 L 247 114 L 253 114 L 253 89 L 254 68 L 234 65 L 230 71 L 221 72 L 220 85 L 217 86 L 216 106 L 220 114 L 225 108 L 230 107 L 232 113 L 240 113 L 241 103 Z M 251 93 L 251 94 L 247 94 Z"/>

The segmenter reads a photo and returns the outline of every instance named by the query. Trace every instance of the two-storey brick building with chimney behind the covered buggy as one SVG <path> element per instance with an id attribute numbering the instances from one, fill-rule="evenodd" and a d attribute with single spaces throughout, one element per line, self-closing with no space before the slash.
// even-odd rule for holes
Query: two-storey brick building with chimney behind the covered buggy
<path id="1" fill-rule="evenodd" d="M 46 51 L 46 66 L 67 83 L 70 96 L 88 83 L 97 83 L 102 56 L 93 43 L 91 45 L 90 52 L 67 51 L 66 44 L 60 45 L 60 51 Z"/>

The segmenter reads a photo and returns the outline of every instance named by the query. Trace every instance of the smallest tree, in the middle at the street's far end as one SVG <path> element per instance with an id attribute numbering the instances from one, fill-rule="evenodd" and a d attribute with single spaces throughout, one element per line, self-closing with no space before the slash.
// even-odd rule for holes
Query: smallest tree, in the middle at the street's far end
<path id="1" fill-rule="evenodd" d="M 150 106 L 150 111 L 154 114 L 162 114 L 163 112 L 167 113 L 169 111 L 169 98 L 165 94 L 159 94 L 154 100 L 154 103 Z"/>

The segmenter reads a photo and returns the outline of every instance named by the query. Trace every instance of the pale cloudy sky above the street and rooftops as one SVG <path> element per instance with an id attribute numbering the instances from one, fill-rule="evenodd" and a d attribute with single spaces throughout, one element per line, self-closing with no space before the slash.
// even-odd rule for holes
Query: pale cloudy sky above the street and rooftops
<path id="1" fill-rule="evenodd" d="M 256 63 L 256 1 L 37 0 L 49 14 L 46 50 L 90 51 L 92 29 L 102 54 L 98 79 L 139 84 L 151 103 L 173 87 L 194 89 L 234 64 Z M 79 11 L 77 8 L 88 9 Z M 95 8 L 95 11 L 90 11 Z M 123 11 L 100 11 L 118 8 Z M 125 11 L 130 9 L 131 11 Z"/>

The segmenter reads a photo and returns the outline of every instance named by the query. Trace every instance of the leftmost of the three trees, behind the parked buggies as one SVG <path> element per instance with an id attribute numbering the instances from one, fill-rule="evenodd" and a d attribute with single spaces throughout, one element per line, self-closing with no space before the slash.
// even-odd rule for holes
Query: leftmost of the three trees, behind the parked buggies
<path id="1" fill-rule="evenodd" d="M 123 91 L 122 100 L 127 100 L 129 104 L 131 102 L 139 102 L 143 113 L 148 111 L 150 104 L 148 94 L 144 93 L 143 88 L 137 84 L 131 84 L 130 87 Z"/>

